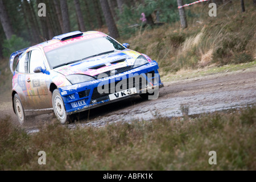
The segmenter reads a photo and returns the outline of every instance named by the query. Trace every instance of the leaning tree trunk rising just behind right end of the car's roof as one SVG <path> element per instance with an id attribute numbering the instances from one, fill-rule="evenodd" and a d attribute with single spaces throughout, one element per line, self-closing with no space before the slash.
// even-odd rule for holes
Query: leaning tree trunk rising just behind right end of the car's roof
<path id="1" fill-rule="evenodd" d="M 106 20 L 106 25 L 108 26 L 110 36 L 112 36 L 114 39 L 119 38 L 119 32 L 117 30 L 117 26 L 114 22 L 111 11 L 109 9 L 108 1 L 100 0 L 100 2 L 101 2 L 101 8 Z"/>

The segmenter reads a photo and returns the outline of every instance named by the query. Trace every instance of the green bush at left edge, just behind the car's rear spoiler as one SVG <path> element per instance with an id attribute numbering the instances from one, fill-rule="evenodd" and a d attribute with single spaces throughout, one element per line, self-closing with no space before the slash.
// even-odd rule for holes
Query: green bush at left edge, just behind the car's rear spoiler
<path id="1" fill-rule="evenodd" d="M 3 41 L 3 56 L 10 57 L 11 53 L 30 46 L 30 42 L 16 35 L 11 36 L 11 39 Z"/>

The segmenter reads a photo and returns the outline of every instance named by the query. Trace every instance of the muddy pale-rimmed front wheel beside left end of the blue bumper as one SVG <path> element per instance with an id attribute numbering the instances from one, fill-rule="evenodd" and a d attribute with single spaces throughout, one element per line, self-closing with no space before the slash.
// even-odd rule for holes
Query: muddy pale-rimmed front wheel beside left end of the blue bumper
<path id="1" fill-rule="evenodd" d="M 66 113 L 65 105 L 59 90 L 55 89 L 52 92 L 52 107 L 56 118 L 61 124 L 65 125 L 69 123 L 69 115 Z"/>

